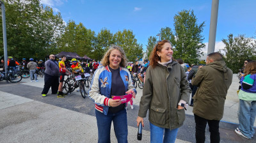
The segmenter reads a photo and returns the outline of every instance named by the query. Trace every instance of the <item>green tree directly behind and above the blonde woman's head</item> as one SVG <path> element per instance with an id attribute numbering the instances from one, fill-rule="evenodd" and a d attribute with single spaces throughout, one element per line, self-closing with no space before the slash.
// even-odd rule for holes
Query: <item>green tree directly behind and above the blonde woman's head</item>
<path id="1" fill-rule="evenodd" d="M 136 61 L 143 57 L 142 45 L 137 43 L 137 39 L 131 30 L 124 29 L 124 31 L 116 32 L 113 41 L 124 49 L 128 61 Z"/>

